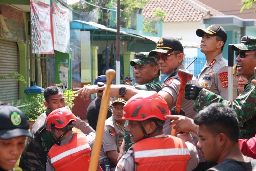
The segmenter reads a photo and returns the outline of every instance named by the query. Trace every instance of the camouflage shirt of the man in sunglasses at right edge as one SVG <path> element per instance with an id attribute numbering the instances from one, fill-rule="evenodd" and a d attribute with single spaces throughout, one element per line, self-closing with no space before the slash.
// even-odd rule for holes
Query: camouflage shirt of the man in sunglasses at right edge
<path id="1" fill-rule="evenodd" d="M 206 106 L 219 102 L 235 110 L 239 120 L 239 139 L 249 139 L 256 133 L 256 90 L 251 80 L 248 80 L 245 89 L 234 101 L 223 100 L 219 95 L 214 94 L 207 89 L 202 89 L 195 101 L 194 110 L 199 112 Z"/>

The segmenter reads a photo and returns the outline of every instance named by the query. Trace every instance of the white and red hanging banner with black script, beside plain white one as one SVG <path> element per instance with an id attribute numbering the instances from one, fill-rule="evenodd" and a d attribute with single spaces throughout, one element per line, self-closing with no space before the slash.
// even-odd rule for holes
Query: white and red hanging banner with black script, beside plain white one
<path id="1" fill-rule="evenodd" d="M 32 53 L 54 54 L 51 6 L 37 0 L 30 6 Z"/>

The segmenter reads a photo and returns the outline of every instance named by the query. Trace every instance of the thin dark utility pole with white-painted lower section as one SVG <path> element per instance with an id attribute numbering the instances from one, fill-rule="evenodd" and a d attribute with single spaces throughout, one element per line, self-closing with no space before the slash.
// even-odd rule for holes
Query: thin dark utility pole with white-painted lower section
<path id="1" fill-rule="evenodd" d="M 117 0 L 116 84 L 120 84 L 120 0 Z"/>

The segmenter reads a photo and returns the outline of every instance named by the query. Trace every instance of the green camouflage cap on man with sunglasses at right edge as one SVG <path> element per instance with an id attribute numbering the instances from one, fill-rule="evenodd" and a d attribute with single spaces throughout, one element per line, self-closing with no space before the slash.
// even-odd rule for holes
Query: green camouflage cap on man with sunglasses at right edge
<path id="1" fill-rule="evenodd" d="M 232 50 L 256 50 L 256 37 L 243 36 L 241 43 L 231 46 Z"/>

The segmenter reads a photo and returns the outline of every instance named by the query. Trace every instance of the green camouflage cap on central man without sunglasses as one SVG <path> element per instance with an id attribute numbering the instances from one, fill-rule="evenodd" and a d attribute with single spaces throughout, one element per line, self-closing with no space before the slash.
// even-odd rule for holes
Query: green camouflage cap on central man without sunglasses
<path id="1" fill-rule="evenodd" d="M 138 65 L 147 65 L 147 64 L 149 64 L 151 62 L 157 63 L 153 56 L 148 56 L 148 53 L 149 52 L 139 52 L 139 53 L 136 53 L 134 55 L 135 59 L 131 60 L 130 65 L 134 66 L 135 63 L 138 64 Z"/>

